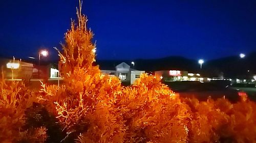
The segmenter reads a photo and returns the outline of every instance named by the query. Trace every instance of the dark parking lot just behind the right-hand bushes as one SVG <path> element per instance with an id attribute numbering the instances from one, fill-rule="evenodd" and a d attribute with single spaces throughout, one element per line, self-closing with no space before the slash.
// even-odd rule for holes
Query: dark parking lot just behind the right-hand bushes
<path id="1" fill-rule="evenodd" d="M 247 95 L 251 101 L 256 101 L 256 88 L 236 88 L 218 83 L 198 81 L 170 81 L 164 82 L 168 87 L 181 97 L 196 97 L 205 101 L 210 96 L 218 99 L 225 96 L 231 102 L 239 101 L 239 96 Z"/>

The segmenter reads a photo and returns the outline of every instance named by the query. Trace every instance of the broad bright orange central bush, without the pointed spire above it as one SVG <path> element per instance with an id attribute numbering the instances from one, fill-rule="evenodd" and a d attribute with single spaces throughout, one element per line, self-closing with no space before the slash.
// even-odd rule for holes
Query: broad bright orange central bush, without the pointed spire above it
<path id="1" fill-rule="evenodd" d="M 187 105 L 158 79 L 144 75 L 123 88 L 117 78 L 78 71 L 81 80 L 45 87 L 40 97 L 68 134 L 81 133 L 81 142 L 186 141 Z"/>

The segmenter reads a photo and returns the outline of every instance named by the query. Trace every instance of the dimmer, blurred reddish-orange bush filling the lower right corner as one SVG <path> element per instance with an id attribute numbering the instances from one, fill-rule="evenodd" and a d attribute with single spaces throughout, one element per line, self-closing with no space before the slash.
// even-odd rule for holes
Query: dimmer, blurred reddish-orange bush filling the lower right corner
<path id="1" fill-rule="evenodd" d="M 242 97 L 231 104 L 227 99 L 185 99 L 189 105 L 188 124 L 190 142 L 255 142 L 256 104 Z"/>

